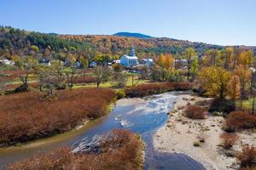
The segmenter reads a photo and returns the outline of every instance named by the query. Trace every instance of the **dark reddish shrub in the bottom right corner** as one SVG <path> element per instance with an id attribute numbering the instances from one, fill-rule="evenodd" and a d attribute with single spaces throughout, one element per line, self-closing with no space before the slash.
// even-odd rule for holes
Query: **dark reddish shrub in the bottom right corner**
<path id="1" fill-rule="evenodd" d="M 243 146 L 242 152 L 237 156 L 240 161 L 241 169 L 255 169 L 256 168 L 256 147 Z"/>

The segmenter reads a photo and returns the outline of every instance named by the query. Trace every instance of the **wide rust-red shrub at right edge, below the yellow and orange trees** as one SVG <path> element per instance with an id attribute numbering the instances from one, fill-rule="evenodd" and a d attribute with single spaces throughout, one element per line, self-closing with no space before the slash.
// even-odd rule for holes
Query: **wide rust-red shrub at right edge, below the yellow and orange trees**
<path id="1" fill-rule="evenodd" d="M 233 111 L 226 118 L 226 127 L 229 130 L 239 130 L 256 127 L 256 116 L 245 111 Z"/>

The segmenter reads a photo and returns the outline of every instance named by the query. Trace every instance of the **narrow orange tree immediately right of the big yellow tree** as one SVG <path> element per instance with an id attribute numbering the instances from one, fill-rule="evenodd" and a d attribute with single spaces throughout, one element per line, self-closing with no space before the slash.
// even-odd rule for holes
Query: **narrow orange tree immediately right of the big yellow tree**
<path id="1" fill-rule="evenodd" d="M 227 94 L 230 97 L 230 99 L 232 100 L 236 100 L 239 99 L 241 92 L 240 92 L 240 80 L 239 77 L 237 77 L 236 75 L 232 76 L 230 81 L 227 84 L 228 86 L 228 91 Z"/>

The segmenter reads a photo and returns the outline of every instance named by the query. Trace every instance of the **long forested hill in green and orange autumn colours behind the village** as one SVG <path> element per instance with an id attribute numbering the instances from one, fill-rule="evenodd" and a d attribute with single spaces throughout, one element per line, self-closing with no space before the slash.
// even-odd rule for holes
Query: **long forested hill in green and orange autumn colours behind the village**
<path id="1" fill-rule="evenodd" d="M 189 47 L 195 48 L 199 55 L 204 54 L 207 49 L 224 48 L 203 42 L 181 41 L 172 38 L 57 35 L 0 27 L 0 56 L 27 55 L 31 54 L 32 48 L 36 48 L 38 54 L 61 55 L 62 58 L 65 57 L 65 54 L 70 53 L 83 54 L 89 57 L 98 53 L 120 55 L 129 52 L 131 43 L 136 48 L 139 57 L 143 57 L 145 54 L 157 55 L 161 53 L 179 55 L 183 53 L 185 48 Z"/>

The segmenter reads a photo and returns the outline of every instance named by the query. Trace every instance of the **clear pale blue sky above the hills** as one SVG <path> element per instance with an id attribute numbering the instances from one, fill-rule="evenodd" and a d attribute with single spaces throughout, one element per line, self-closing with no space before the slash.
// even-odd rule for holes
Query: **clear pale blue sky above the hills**
<path id="1" fill-rule="evenodd" d="M 255 0 L 0 0 L 0 25 L 61 34 L 131 31 L 256 46 Z"/>

